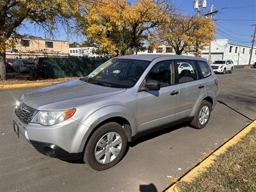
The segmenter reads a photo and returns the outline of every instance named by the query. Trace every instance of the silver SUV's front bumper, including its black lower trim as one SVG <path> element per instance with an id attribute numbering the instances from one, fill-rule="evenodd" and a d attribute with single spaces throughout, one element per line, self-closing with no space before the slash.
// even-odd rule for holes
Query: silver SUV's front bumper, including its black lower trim
<path id="1" fill-rule="evenodd" d="M 85 125 L 72 118 L 57 125 L 44 126 L 25 124 L 13 111 L 13 122 L 19 127 L 19 134 L 38 152 L 59 159 L 80 159 L 84 135 L 88 130 Z"/>

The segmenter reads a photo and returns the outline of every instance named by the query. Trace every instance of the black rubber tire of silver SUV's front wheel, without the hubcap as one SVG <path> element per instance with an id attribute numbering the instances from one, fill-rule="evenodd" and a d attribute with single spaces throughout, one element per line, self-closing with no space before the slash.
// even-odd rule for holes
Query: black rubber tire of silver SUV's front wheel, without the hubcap
<path id="1" fill-rule="evenodd" d="M 97 145 L 97 142 L 100 140 L 100 138 L 108 132 L 117 132 L 118 134 L 120 134 L 122 138 L 122 148 L 120 150 L 120 153 L 116 157 L 116 159 L 111 161 L 111 163 L 101 164 L 95 158 L 95 147 Z M 93 170 L 97 170 L 97 171 L 106 170 L 114 166 L 116 163 L 118 163 L 122 159 L 122 157 L 124 156 L 126 147 L 127 147 L 127 136 L 125 134 L 124 128 L 121 125 L 116 124 L 115 122 L 110 122 L 100 126 L 95 132 L 93 132 L 84 150 L 83 159 L 85 163 L 87 163 L 91 168 L 93 168 Z"/>

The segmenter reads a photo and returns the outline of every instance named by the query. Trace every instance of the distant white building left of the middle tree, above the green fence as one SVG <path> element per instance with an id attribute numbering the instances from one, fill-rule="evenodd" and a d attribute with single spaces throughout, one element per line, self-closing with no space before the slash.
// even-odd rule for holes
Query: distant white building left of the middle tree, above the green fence
<path id="1" fill-rule="evenodd" d="M 98 55 L 94 52 L 97 50 L 96 47 L 70 47 L 70 56 L 87 56 L 87 57 L 97 57 Z"/>

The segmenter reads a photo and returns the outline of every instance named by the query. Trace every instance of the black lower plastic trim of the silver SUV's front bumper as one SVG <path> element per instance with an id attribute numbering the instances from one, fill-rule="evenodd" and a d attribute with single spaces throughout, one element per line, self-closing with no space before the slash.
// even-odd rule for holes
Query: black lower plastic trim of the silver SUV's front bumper
<path id="1" fill-rule="evenodd" d="M 38 152 L 44 154 L 45 156 L 54 157 L 58 159 L 76 160 L 81 159 L 82 152 L 79 153 L 69 153 L 58 145 L 52 143 L 44 143 L 40 141 L 29 140 L 31 145 L 35 147 Z"/>

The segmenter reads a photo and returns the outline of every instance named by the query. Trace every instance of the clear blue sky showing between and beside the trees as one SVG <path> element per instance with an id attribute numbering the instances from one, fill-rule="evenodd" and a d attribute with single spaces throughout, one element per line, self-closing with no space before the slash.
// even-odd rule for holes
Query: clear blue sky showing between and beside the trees
<path id="1" fill-rule="evenodd" d="M 172 0 L 172 4 L 179 8 L 186 15 L 195 15 L 195 0 Z M 131 2 L 131 1 L 129 1 Z M 207 0 L 207 8 L 202 8 L 203 13 L 209 12 L 211 5 L 220 11 L 214 15 L 216 29 L 216 38 L 228 38 L 228 42 L 238 45 L 252 45 L 252 35 L 256 24 L 256 0 Z M 20 34 L 41 36 L 42 38 L 52 38 L 45 34 L 44 30 L 28 21 L 24 22 L 19 29 Z M 81 42 L 84 36 L 70 31 L 67 35 L 67 27 L 58 26 L 58 31 L 54 33 L 53 38 L 58 40 L 67 40 L 69 42 Z"/>

